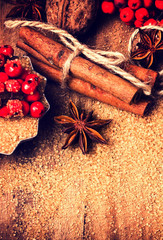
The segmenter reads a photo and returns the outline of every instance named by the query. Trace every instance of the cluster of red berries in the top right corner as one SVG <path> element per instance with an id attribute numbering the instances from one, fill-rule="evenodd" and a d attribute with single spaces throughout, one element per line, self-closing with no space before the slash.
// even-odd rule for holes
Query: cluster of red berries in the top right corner
<path id="1" fill-rule="evenodd" d="M 120 19 L 136 28 L 147 25 L 163 26 L 163 19 L 155 19 L 163 10 L 163 0 L 103 0 L 101 8 L 108 14 L 113 14 L 118 9 Z"/>

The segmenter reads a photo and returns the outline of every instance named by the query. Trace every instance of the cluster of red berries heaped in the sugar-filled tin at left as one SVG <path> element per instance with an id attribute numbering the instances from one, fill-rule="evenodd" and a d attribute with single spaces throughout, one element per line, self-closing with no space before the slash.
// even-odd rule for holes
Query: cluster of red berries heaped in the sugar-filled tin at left
<path id="1" fill-rule="evenodd" d="M 40 118 L 45 107 L 40 101 L 38 90 L 40 77 L 22 67 L 20 60 L 13 56 L 10 45 L 0 47 L 0 95 L 9 94 L 9 99 L 0 102 L 0 117 L 27 116 Z"/>

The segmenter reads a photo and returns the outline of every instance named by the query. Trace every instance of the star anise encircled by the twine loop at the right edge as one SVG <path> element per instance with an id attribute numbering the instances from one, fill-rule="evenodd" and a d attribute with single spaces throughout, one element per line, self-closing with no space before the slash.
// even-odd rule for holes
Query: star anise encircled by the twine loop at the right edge
<path id="1" fill-rule="evenodd" d="M 131 58 L 140 61 L 140 64 L 150 68 L 154 62 L 157 51 L 163 50 L 162 33 L 160 30 L 151 30 L 149 32 L 139 29 L 140 42 L 137 49 L 131 52 Z"/>

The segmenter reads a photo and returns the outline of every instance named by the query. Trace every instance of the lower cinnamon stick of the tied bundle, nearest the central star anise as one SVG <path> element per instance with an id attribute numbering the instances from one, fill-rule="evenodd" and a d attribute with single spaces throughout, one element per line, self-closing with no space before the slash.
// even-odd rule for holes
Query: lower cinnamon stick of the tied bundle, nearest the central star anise
<path id="1" fill-rule="evenodd" d="M 59 68 L 50 67 L 49 65 L 38 61 L 36 58 L 32 56 L 30 56 L 30 58 L 34 68 L 38 70 L 41 74 L 43 74 L 45 77 L 58 83 L 62 82 L 62 72 Z M 144 116 L 150 109 L 151 105 L 151 103 L 147 101 L 130 105 L 116 98 L 112 94 L 100 89 L 99 87 L 95 87 L 89 82 L 85 82 L 79 78 L 73 78 L 70 76 L 68 78 L 68 87 L 71 90 L 83 94 L 87 97 L 94 98 L 103 103 L 112 105 L 121 110 L 138 114 L 140 116 Z"/>

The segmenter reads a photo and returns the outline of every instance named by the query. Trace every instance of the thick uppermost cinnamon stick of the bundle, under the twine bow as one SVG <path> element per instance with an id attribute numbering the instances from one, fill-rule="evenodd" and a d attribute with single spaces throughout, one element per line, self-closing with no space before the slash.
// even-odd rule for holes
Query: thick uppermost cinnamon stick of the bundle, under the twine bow
<path id="1" fill-rule="evenodd" d="M 29 27 L 22 27 L 19 35 L 25 43 L 59 68 L 63 68 L 72 53 L 62 44 Z M 74 78 L 90 82 L 129 104 L 138 102 L 142 95 L 141 89 L 82 57 L 73 59 L 70 72 Z"/>

